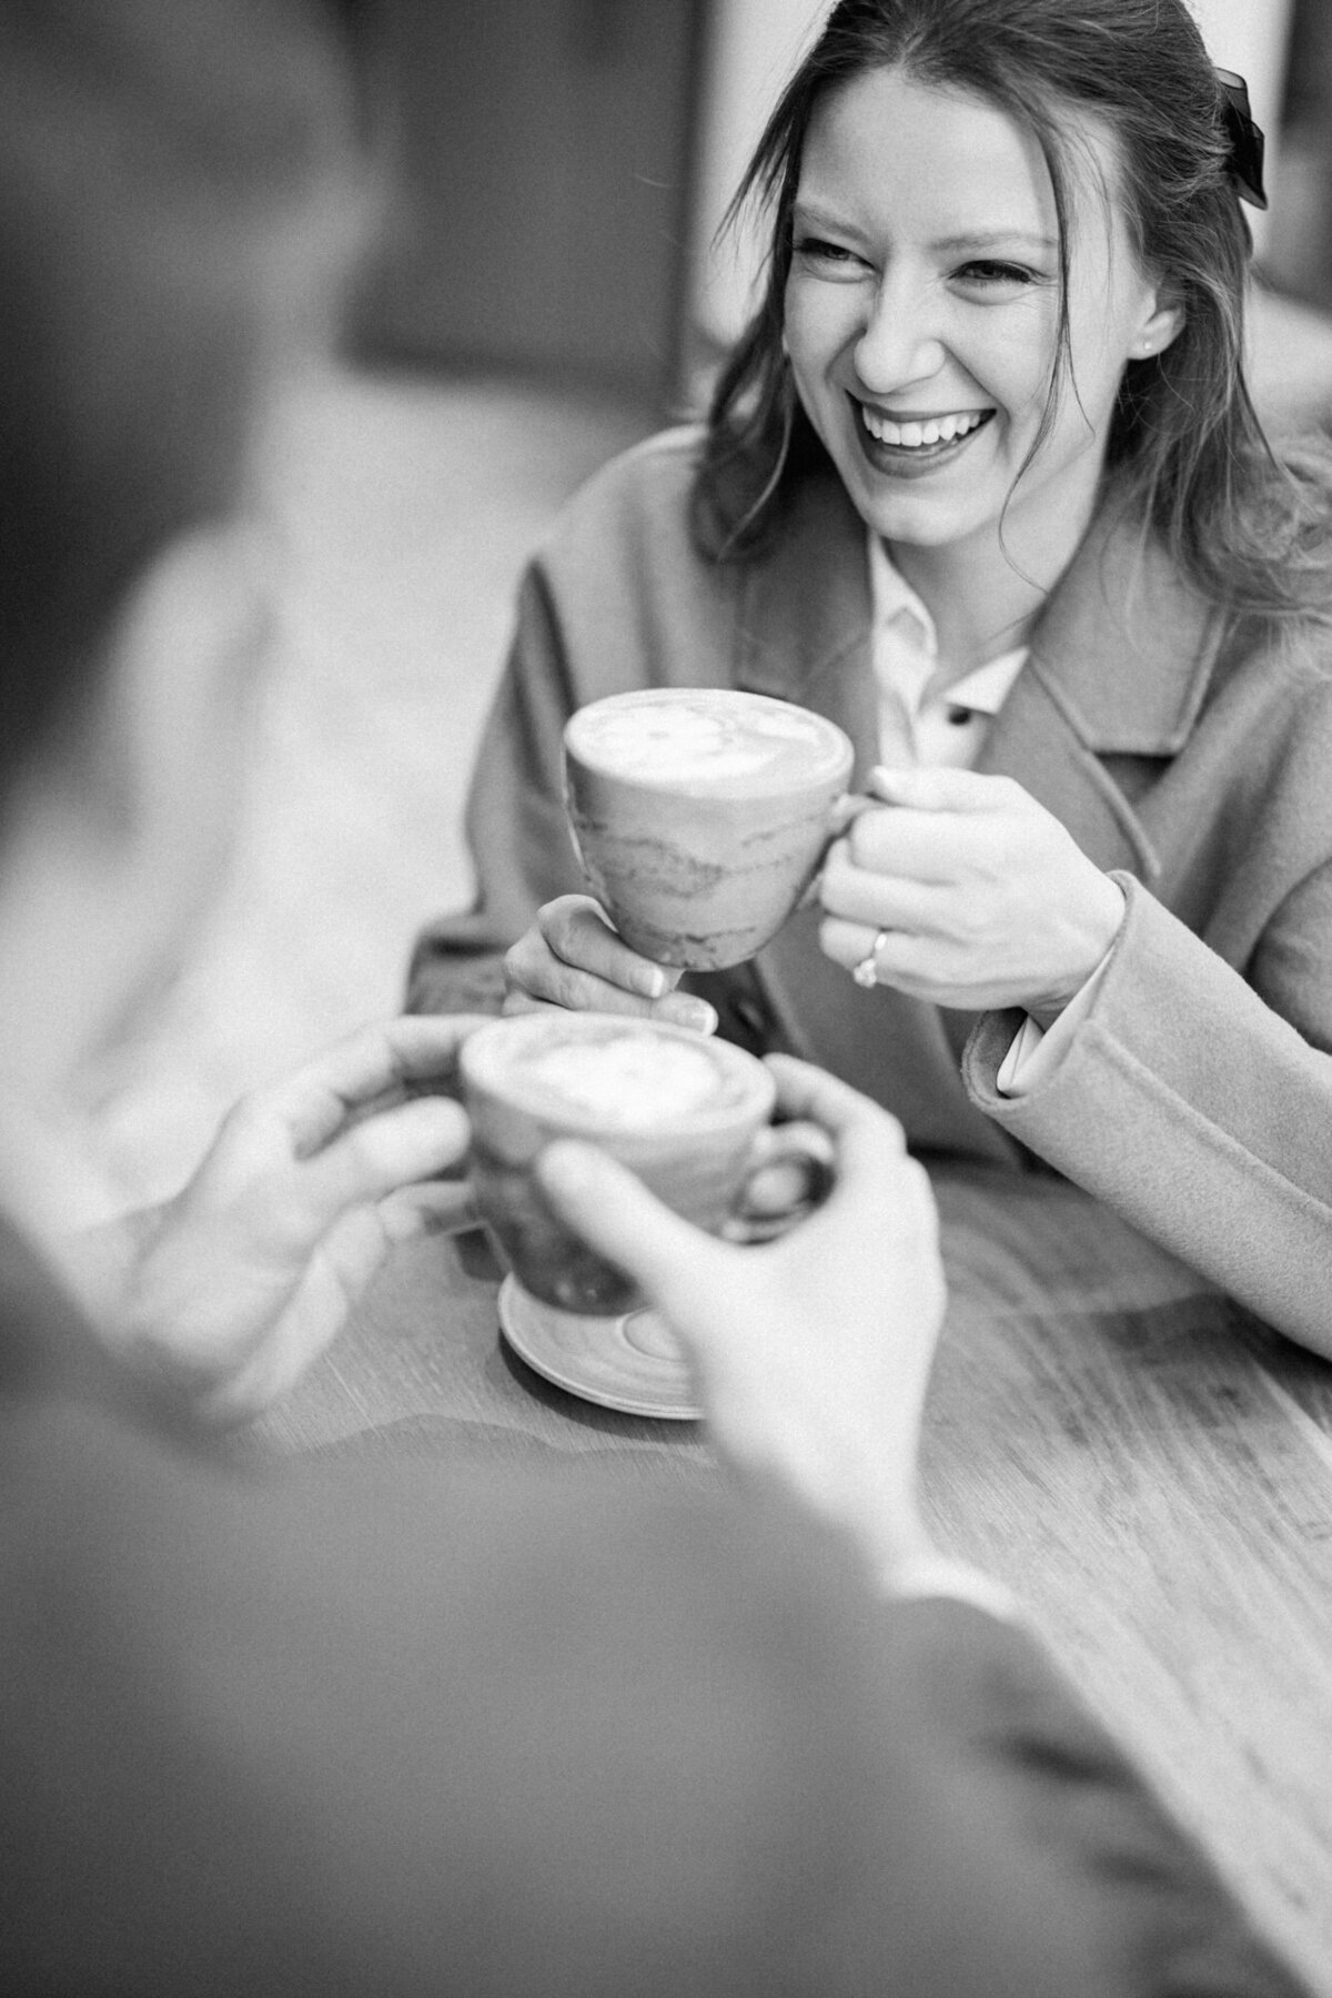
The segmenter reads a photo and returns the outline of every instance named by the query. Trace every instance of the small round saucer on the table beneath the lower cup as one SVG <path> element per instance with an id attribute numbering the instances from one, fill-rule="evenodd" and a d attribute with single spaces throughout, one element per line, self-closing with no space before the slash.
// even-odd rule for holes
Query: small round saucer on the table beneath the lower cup
<path id="1" fill-rule="evenodd" d="M 655 1311 L 585 1319 L 543 1305 L 505 1277 L 499 1325 L 519 1359 L 569 1395 L 667 1423 L 697 1423 L 703 1415 L 675 1335 Z"/>

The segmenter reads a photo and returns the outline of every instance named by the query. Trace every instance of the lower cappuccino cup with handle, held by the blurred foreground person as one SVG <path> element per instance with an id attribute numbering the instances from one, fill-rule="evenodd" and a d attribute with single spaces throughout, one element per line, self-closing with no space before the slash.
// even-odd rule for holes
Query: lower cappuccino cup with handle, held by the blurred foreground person
<path id="1" fill-rule="evenodd" d="M 643 1299 L 549 1207 L 533 1165 L 553 1139 L 599 1145 L 677 1215 L 739 1241 L 775 1233 L 769 1213 L 747 1207 L 759 1173 L 775 1165 L 791 1173 L 783 1223 L 831 1185 L 827 1133 L 771 1123 L 769 1069 L 685 1027 L 617 1013 L 521 1013 L 477 1027 L 459 1073 L 477 1211 L 517 1283 L 559 1311 L 619 1317 Z"/>

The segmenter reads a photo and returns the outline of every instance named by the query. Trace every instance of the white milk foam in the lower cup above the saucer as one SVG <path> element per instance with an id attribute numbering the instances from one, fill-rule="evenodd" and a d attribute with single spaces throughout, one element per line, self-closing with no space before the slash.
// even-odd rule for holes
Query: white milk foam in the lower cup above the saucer
<path id="1" fill-rule="evenodd" d="M 651 1033 L 557 1041 L 531 1053 L 523 1067 L 571 1111 L 617 1129 L 687 1117 L 725 1087 L 703 1049 Z"/>

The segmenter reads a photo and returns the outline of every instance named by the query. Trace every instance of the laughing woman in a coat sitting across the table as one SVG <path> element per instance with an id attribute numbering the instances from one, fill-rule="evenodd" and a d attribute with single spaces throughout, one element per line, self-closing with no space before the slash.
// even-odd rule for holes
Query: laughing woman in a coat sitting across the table
<path id="1" fill-rule="evenodd" d="M 1332 1353 L 1330 505 L 1244 386 L 1260 164 L 1182 0 L 835 6 L 741 190 L 767 286 L 707 424 L 527 573 L 479 901 L 413 1007 L 487 963 L 507 1007 L 795 1049 Z M 567 713 L 659 683 L 833 715 L 883 805 L 821 909 L 687 989 L 561 823 Z"/>

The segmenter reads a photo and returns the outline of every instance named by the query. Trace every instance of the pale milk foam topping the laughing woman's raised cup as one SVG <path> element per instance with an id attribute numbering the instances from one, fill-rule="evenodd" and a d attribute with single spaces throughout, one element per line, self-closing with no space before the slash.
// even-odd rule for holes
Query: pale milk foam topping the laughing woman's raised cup
<path id="1" fill-rule="evenodd" d="M 839 755 L 817 715 L 739 693 L 593 703 L 569 723 L 569 743 L 603 769 L 661 783 L 725 783 L 779 763 L 817 769 Z"/>

